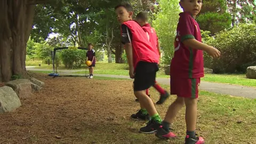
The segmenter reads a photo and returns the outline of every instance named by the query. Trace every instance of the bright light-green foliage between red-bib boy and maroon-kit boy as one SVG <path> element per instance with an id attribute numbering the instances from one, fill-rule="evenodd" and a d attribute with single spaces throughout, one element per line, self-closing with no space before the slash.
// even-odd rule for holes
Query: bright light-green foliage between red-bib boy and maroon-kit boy
<path id="1" fill-rule="evenodd" d="M 174 37 L 177 23 L 179 20 L 180 6 L 178 0 L 160 0 L 159 12 L 156 20 L 153 21 L 153 27 L 157 31 L 159 41 L 161 42 L 163 62 L 170 63 L 174 52 Z"/>

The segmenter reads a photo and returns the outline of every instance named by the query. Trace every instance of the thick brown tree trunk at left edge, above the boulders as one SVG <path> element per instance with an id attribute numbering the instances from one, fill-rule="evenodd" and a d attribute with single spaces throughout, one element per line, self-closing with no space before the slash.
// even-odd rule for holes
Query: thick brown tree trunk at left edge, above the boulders
<path id="1" fill-rule="evenodd" d="M 26 45 L 35 12 L 27 1 L 0 1 L 0 82 L 10 81 L 12 75 L 27 77 Z"/>

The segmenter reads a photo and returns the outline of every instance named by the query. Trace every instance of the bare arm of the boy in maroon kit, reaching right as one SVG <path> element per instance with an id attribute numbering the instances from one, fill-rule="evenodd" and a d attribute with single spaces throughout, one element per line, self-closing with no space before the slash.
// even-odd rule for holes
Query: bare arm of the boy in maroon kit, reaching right
<path id="1" fill-rule="evenodd" d="M 187 47 L 193 47 L 193 49 L 203 50 L 206 51 L 209 55 L 211 55 L 213 58 L 220 57 L 220 51 L 215 49 L 214 47 L 201 43 L 197 41 L 194 38 L 189 38 L 183 41 L 183 44 Z"/>

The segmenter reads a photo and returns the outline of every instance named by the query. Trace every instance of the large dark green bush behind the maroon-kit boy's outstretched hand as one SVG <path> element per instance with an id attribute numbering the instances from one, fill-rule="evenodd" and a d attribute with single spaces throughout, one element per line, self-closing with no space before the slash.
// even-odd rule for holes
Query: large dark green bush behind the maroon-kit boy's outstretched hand
<path id="1" fill-rule="evenodd" d="M 204 55 L 205 66 L 212 68 L 214 73 L 245 73 L 248 66 L 256 65 L 255 23 L 243 23 L 221 31 L 206 43 L 221 52 L 218 60 Z"/>

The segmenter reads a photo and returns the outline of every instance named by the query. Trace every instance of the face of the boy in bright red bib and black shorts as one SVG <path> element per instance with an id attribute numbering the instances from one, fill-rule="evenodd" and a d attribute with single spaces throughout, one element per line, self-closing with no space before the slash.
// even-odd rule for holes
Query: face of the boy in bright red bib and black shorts
<path id="1" fill-rule="evenodd" d="M 132 14 L 132 12 L 127 12 L 123 6 L 120 6 L 116 9 L 117 20 L 121 24 L 125 21 L 132 20 Z"/>

